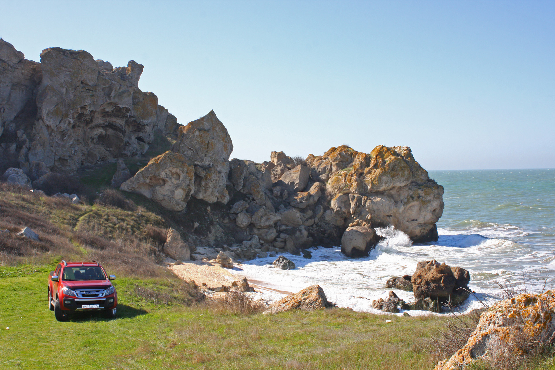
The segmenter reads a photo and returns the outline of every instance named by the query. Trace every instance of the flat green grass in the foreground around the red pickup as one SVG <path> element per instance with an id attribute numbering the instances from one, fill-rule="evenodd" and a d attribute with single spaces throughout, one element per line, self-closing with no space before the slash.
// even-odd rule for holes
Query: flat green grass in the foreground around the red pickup
<path id="1" fill-rule="evenodd" d="M 133 285 L 142 282 L 124 278 L 115 281 L 116 320 L 82 315 L 57 322 L 47 308 L 49 270 L 0 267 L 2 369 L 57 369 L 68 363 L 79 369 L 433 367 L 431 357 L 411 345 L 435 330 L 437 318 L 343 309 L 235 316 L 205 305 L 155 306 L 134 295 Z"/>

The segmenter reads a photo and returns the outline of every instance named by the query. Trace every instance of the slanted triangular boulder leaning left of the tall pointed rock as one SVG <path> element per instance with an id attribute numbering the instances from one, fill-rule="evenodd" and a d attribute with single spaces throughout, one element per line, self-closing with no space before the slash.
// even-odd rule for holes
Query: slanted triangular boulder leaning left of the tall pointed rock
<path id="1" fill-rule="evenodd" d="M 181 211 L 195 190 L 194 174 L 194 166 L 187 164 L 183 155 L 166 151 L 151 159 L 120 189 L 142 194 L 171 211 Z"/>

